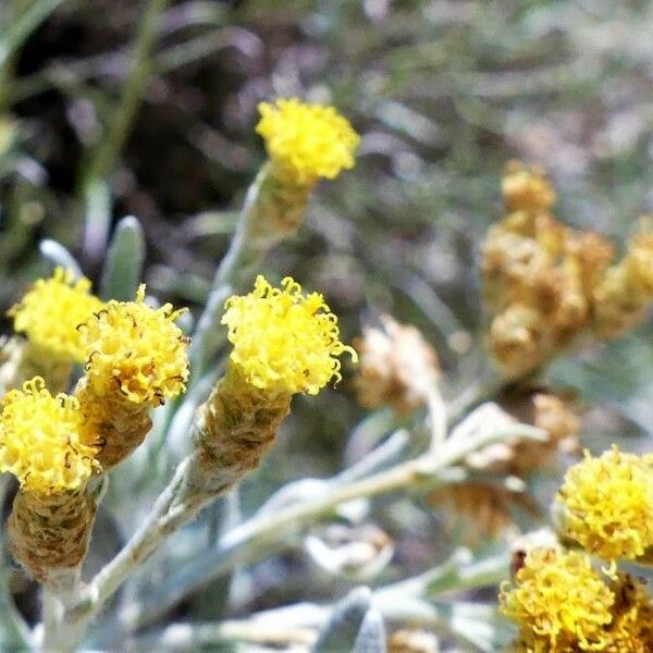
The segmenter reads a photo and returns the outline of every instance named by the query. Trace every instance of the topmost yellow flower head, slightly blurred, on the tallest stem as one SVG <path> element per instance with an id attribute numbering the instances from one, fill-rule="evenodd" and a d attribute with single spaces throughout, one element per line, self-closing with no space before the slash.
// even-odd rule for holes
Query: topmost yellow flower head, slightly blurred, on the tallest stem
<path id="1" fill-rule="evenodd" d="M 266 139 L 268 155 L 296 184 L 333 180 L 354 168 L 360 137 L 333 107 L 289 98 L 261 102 L 259 112 L 256 131 Z"/>

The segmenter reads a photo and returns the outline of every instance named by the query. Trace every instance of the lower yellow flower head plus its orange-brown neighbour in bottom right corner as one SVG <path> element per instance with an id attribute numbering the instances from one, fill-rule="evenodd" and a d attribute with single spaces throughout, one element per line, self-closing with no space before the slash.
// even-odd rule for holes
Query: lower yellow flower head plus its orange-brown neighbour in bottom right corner
<path id="1" fill-rule="evenodd" d="M 653 646 L 653 602 L 641 581 L 605 578 L 584 553 L 532 549 L 500 594 L 519 625 L 522 653 L 645 653 Z"/>

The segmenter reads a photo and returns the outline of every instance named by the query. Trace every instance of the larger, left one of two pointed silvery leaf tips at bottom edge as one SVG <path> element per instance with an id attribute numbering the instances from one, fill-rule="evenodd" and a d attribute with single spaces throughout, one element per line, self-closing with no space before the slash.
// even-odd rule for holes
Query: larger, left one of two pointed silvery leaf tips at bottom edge
<path id="1" fill-rule="evenodd" d="M 353 590 L 331 613 L 322 628 L 313 653 L 342 653 L 352 651 L 360 626 L 369 612 L 371 592 L 361 587 Z"/>

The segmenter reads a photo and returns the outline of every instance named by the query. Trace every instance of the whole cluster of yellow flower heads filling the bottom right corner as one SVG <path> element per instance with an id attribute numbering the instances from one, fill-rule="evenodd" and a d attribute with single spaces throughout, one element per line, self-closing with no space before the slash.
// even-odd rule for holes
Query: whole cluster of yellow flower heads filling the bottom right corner
<path id="1" fill-rule="evenodd" d="M 514 558 L 513 582 L 502 586 L 502 611 L 519 627 L 514 650 L 652 651 L 653 600 L 617 566 L 619 559 L 650 562 L 652 516 L 653 455 L 616 446 L 597 458 L 586 453 L 554 504 L 558 537 L 580 551 L 559 542 L 527 546 Z M 590 556 L 611 565 L 599 572 Z"/>

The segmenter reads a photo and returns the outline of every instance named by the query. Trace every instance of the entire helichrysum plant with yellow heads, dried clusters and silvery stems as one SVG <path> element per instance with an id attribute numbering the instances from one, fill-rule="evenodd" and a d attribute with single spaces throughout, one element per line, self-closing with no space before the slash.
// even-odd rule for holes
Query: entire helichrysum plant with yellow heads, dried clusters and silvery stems
<path id="1" fill-rule="evenodd" d="M 27 626 L 0 575 L 10 626 L 2 645 L 406 653 L 455 641 L 482 652 L 652 651 L 653 602 L 624 568 L 653 559 L 650 455 L 587 453 L 562 482 L 553 530 L 508 553 L 522 534 L 515 507 L 542 513 L 532 478 L 556 469 L 558 454 L 582 451 L 578 405 L 540 372 L 644 320 L 653 300 L 648 223 L 617 259 L 606 238 L 552 214 L 556 194 L 543 171 L 509 164 L 506 215 L 481 252 L 492 380 L 455 397 L 416 326 L 384 315 L 348 345 L 323 294 L 261 273 L 270 248 L 303 229 L 318 183 L 354 167 L 360 138 L 333 107 L 287 98 L 259 112 L 268 159 L 197 315 L 159 305 L 138 285 L 133 218 L 116 230 L 99 296 L 63 256 L 10 310 L 0 471 L 17 489 L 4 533 L 41 584 L 41 623 Z M 279 441 L 297 396 L 319 405 L 328 386 L 353 391 L 370 411 L 350 436 L 362 455 L 331 479 L 286 482 L 239 512 L 239 485 Z M 500 545 L 478 555 L 459 547 L 393 578 L 393 537 L 372 522 L 381 495 L 440 512 L 449 532 L 464 518 L 461 537 Z M 229 509 L 217 508 L 221 497 Z M 96 570 L 86 558 L 101 510 L 124 542 Z M 218 618 L 218 603 L 237 603 L 248 584 L 238 581 L 245 568 L 298 543 L 333 587 L 368 587 Z M 494 602 L 465 594 L 500 583 Z M 187 621 L 168 626 L 182 602 Z M 241 603 L 241 613 L 252 604 Z M 198 620 L 198 605 L 212 616 Z"/>

